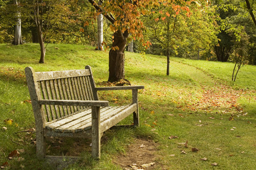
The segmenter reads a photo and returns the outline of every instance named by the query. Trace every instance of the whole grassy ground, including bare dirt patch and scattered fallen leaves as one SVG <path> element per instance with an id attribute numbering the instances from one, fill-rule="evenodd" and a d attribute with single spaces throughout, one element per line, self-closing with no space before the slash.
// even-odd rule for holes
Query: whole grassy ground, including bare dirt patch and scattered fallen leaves
<path id="1" fill-rule="evenodd" d="M 0 165 L 4 169 L 56 169 L 35 158 L 34 117 L 24 68 L 83 69 L 91 65 L 97 86 L 108 79 L 108 53 L 94 47 L 49 44 L 38 64 L 38 44 L 0 44 Z M 139 91 L 139 128 L 115 128 L 102 137 L 101 160 L 90 140 L 48 139 L 48 153 L 81 156 L 66 169 L 253 169 L 256 166 L 255 66 L 231 82 L 232 63 L 126 53 L 125 76 Z M 112 105 L 130 91 L 99 93 Z M 132 124 L 132 117 L 121 124 Z M 136 164 L 136 165 L 135 165 Z M 3 167 L 2 167 L 3 166 Z M 59 165 L 59 168 L 61 165 Z"/>

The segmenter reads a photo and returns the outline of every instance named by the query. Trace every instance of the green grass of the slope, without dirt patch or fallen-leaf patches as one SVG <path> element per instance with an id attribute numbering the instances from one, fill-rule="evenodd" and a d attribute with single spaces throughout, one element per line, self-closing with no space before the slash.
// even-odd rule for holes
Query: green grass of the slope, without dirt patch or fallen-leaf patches
<path id="1" fill-rule="evenodd" d="M 20 165 L 27 169 L 39 169 L 44 166 L 34 158 L 34 145 L 30 144 L 26 134 L 23 137 L 17 131 L 34 127 L 34 118 L 29 103 L 29 94 L 24 77 L 24 68 L 32 66 L 36 71 L 82 69 L 91 65 L 96 83 L 108 78 L 108 53 L 94 51 L 93 47 L 69 44 L 49 44 L 47 47 L 46 63 L 38 64 L 38 44 L 12 46 L 0 44 L 0 165 L 7 161 L 6 156 L 13 150 L 24 149 L 20 155 L 24 161 L 9 160 L 10 168 Z M 102 159 L 98 163 L 90 158 L 87 152 L 82 153 L 84 159 L 80 164 L 74 164 L 70 169 L 118 169 L 111 162 L 110 157 L 125 152 L 123 143 L 133 142 L 133 138 L 148 137 L 160 143 L 156 169 L 253 169 L 256 166 L 255 155 L 255 92 L 245 94 L 240 99 L 247 116 L 236 117 L 229 121 L 229 112 L 216 110 L 186 110 L 179 106 L 186 106 L 189 102 L 197 102 L 202 95 L 202 85 L 213 87 L 216 83 L 225 81 L 235 89 L 249 88 L 255 90 L 255 66 L 241 69 L 235 83 L 229 81 L 231 63 L 193 61 L 185 59 L 171 59 L 170 76 L 165 76 L 165 57 L 126 53 L 125 76 L 132 85 L 144 85 L 140 91 L 141 127 L 135 130 L 117 130 L 107 133 L 109 141 L 102 145 Z M 183 64 L 186 63 L 186 64 Z M 200 69 L 204 70 L 204 74 Z M 223 71 L 223 68 L 225 71 Z M 229 71 L 227 71 L 229 70 Z M 250 96 L 251 95 L 251 96 Z M 101 93 L 104 100 L 123 103 L 131 97 L 129 91 Z M 115 99 L 115 100 L 114 100 Z M 178 106 L 178 108 L 177 108 Z M 154 111 L 154 112 L 152 112 Z M 234 111 L 234 110 L 232 110 Z M 235 110 L 236 111 L 236 110 Z M 173 115 L 169 115 L 173 114 Z M 215 119 L 209 119 L 209 117 Z M 13 119 L 12 125 L 4 120 Z M 201 123 L 199 123 L 201 120 Z M 132 118 L 124 120 L 125 124 L 132 123 Z M 153 124 L 154 123 L 154 124 Z M 202 124 L 202 127 L 196 126 Z M 2 130 L 2 127 L 7 130 Z M 230 131 L 236 127 L 234 131 Z M 156 129 L 153 133 L 151 130 Z M 168 139 L 175 135 L 178 139 Z M 236 137 L 240 136 L 240 137 Z M 188 140 L 188 149 L 179 148 L 179 142 Z M 15 141 L 15 142 L 13 142 Z M 17 144 L 19 143 L 19 144 Z M 23 145 L 20 145 L 23 144 Z M 4 147 L 3 147 L 4 146 Z M 191 148 L 199 148 L 198 153 L 191 152 Z M 221 150 L 217 150 L 219 148 Z M 180 154 L 184 150 L 187 154 Z M 244 154 L 241 152 L 244 151 Z M 175 156 L 168 156 L 175 154 Z M 230 156 L 231 155 L 231 156 Z M 209 161 L 201 161 L 207 157 Z M 218 166 L 210 164 L 217 162 Z M 150 162 L 147 162 L 150 163 Z M 83 166 L 81 166 L 83 165 Z"/>

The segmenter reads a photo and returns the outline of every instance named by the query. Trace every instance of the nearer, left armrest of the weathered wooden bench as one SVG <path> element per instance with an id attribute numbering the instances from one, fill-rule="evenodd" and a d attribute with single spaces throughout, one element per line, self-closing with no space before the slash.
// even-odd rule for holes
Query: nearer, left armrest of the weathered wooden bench
<path id="1" fill-rule="evenodd" d="M 40 105 L 60 106 L 109 106 L 108 101 L 78 101 L 78 100 L 39 100 Z"/>

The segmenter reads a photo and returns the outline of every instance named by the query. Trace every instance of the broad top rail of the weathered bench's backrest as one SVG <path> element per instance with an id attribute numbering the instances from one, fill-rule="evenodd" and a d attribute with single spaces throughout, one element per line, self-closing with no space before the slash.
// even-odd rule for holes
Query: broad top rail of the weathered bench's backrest
<path id="1" fill-rule="evenodd" d="M 91 72 L 88 69 L 81 70 L 65 70 L 65 71 L 48 71 L 48 72 L 35 72 L 35 79 L 41 80 L 52 80 L 79 76 L 90 76 Z"/>

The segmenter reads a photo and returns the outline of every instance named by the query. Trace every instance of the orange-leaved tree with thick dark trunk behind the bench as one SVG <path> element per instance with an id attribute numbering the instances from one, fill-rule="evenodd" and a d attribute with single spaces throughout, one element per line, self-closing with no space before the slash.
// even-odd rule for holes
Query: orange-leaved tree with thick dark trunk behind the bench
<path id="1" fill-rule="evenodd" d="M 95 16 L 100 13 L 111 22 L 110 29 L 114 32 L 113 43 L 109 52 L 109 79 L 114 82 L 124 79 L 124 49 L 129 34 L 136 40 L 140 39 L 143 45 L 150 45 L 149 42 L 143 42 L 143 22 L 140 19 L 149 10 L 163 4 L 165 6 L 173 6 L 179 3 L 181 6 L 186 5 L 186 1 L 103 1 L 99 5 L 99 1 L 88 0 L 96 9 Z"/>

